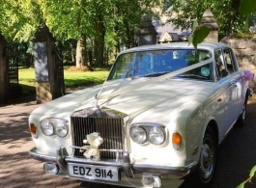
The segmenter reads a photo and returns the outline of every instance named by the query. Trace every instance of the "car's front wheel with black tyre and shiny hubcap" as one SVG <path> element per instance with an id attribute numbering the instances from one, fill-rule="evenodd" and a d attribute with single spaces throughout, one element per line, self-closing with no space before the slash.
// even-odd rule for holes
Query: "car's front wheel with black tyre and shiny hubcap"
<path id="1" fill-rule="evenodd" d="M 207 188 L 213 182 L 216 167 L 216 137 L 211 127 L 208 127 L 201 146 L 197 170 L 185 178 L 185 184 L 196 188 Z"/>

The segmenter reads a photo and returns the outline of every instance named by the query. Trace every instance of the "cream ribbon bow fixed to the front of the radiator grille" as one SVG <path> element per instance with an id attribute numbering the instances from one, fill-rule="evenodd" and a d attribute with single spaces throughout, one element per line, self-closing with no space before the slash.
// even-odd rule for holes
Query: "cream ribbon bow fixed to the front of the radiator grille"
<path id="1" fill-rule="evenodd" d="M 100 150 L 99 147 L 103 143 L 103 139 L 99 136 L 98 132 L 88 134 L 86 136 L 87 140 L 83 140 L 85 145 L 89 144 L 90 146 L 83 146 L 80 148 L 80 152 L 83 153 L 86 158 L 91 158 L 93 156 L 96 159 L 100 159 Z"/>

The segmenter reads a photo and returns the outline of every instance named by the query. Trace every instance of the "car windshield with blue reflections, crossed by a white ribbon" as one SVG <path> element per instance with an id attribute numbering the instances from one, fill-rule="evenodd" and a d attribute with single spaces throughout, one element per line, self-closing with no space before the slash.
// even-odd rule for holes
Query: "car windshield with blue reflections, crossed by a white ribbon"
<path id="1" fill-rule="evenodd" d="M 164 49 L 137 51 L 118 57 L 108 80 L 156 77 L 212 58 L 207 50 Z M 196 67 L 181 73 L 176 78 L 213 81 L 213 64 Z"/>

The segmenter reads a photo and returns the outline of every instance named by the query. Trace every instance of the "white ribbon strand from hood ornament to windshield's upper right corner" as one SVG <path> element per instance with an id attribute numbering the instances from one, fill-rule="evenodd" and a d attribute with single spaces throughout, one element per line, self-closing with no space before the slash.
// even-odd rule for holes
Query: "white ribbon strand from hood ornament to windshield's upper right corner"
<path id="1" fill-rule="evenodd" d="M 170 77 L 174 77 L 178 74 L 181 74 L 181 73 L 184 73 L 188 70 L 191 70 L 191 69 L 194 69 L 196 67 L 202 67 L 202 66 L 205 66 L 207 64 L 210 64 L 213 62 L 213 58 L 210 58 L 208 60 L 205 60 L 205 61 L 202 61 L 200 63 L 197 63 L 197 64 L 194 64 L 192 66 L 188 66 L 188 67 L 183 67 L 181 69 L 178 69 L 178 70 L 175 70 L 173 72 L 170 72 L 170 73 L 167 73 L 167 74 L 164 74 L 164 75 L 161 75 L 161 76 L 158 76 L 154 79 L 150 79 L 150 80 L 147 80 L 145 82 L 139 82 L 139 83 L 136 83 L 136 84 L 133 84 L 132 86 L 127 86 L 127 87 L 124 87 L 123 89 L 121 90 L 118 90 L 116 92 L 113 92 L 112 94 L 103 94 L 103 95 L 100 95 L 101 94 L 101 91 L 103 89 L 103 86 L 104 84 L 102 85 L 102 88 L 99 92 L 99 94 L 97 95 L 97 99 L 103 99 L 103 98 L 108 98 L 108 97 L 112 97 L 112 96 L 117 96 L 119 94 L 125 94 L 127 92 L 130 92 L 132 90 L 136 90 L 138 88 L 141 88 L 141 87 L 144 87 L 144 86 L 147 86 L 147 85 L 150 85 L 150 84 L 154 84 L 156 82 L 159 82 L 159 81 L 162 81 L 162 80 L 165 80 L 167 78 L 170 78 Z"/>

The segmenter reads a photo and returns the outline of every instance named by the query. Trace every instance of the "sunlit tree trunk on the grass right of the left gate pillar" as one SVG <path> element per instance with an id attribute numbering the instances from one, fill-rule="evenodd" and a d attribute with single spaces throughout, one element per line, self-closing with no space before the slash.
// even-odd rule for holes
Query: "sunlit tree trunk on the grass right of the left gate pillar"
<path id="1" fill-rule="evenodd" d="M 82 34 L 76 45 L 76 67 L 88 67 L 86 35 Z"/>

